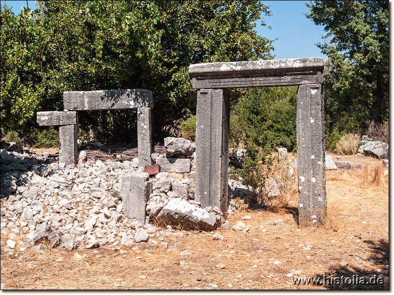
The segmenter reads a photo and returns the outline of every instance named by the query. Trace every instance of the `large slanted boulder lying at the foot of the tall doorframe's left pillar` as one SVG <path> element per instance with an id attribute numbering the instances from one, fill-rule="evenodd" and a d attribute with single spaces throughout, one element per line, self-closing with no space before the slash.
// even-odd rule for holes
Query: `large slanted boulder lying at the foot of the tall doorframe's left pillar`
<path id="1" fill-rule="evenodd" d="M 220 216 L 180 198 L 174 198 L 164 206 L 158 219 L 167 225 L 175 225 L 183 229 L 212 231 L 219 225 Z"/>

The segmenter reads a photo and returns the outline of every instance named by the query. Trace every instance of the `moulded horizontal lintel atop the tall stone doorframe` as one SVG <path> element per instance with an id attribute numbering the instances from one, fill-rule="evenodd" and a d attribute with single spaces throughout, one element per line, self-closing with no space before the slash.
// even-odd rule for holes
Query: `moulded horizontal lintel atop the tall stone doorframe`
<path id="1" fill-rule="evenodd" d="M 323 83 L 322 58 L 198 63 L 189 66 L 194 89 Z"/>

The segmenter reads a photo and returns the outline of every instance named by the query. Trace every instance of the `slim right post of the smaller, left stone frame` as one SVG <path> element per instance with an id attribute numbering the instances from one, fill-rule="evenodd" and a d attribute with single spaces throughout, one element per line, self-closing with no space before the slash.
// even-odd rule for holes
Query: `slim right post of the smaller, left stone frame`
<path id="1" fill-rule="evenodd" d="M 150 108 L 137 109 L 138 168 L 144 171 L 145 165 L 152 165 L 153 153 L 152 120 Z"/>

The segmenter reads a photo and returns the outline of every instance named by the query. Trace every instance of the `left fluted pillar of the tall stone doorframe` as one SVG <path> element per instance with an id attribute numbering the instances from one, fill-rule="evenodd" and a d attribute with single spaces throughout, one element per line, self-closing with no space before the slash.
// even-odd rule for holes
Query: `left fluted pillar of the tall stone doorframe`
<path id="1" fill-rule="evenodd" d="M 228 209 L 230 92 L 199 89 L 196 122 L 196 201 Z"/>

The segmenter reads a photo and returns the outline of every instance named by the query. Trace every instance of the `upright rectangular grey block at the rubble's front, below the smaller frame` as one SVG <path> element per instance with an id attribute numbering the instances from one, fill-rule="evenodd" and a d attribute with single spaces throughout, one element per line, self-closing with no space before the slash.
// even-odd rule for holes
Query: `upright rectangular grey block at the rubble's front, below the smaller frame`
<path id="1" fill-rule="evenodd" d="M 123 177 L 120 194 L 126 217 L 145 223 L 146 203 L 153 191 L 152 186 L 147 173 L 132 173 Z"/>

